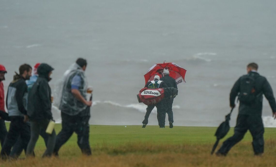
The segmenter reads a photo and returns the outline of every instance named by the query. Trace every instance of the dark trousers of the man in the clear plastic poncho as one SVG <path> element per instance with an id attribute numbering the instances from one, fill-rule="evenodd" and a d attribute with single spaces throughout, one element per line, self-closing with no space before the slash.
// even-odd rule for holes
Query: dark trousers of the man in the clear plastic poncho
<path id="1" fill-rule="evenodd" d="M 86 110 L 89 110 L 90 112 L 90 107 L 87 107 Z M 81 112 L 78 115 L 71 116 L 61 111 L 61 118 L 62 130 L 59 132 L 56 138 L 54 155 L 58 155 L 60 147 L 67 142 L 73 132 L 76 132 L 78 135 L 78 146 L 81 149 L 82 153 L 86 155 L 91 155 L 88 123 L 90 115 L 83 115 L 83 113 Z"/>

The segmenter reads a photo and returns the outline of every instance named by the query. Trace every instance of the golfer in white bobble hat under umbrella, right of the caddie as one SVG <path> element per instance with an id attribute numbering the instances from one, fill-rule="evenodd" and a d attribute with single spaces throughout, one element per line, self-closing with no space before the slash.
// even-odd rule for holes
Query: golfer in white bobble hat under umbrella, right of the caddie
<path id="1" fill-rule="evenodd" d="M 163 70 L 163 74 L 164 74 L 164 77 L 162 77 L 160 80 L 164 81 L 168 87 L 172 87 L 172 88 L 176 88 L 177 89 L 177 84 L 176 84 L 176 81 L 175 79 L 173 79 L 172 77 L 169 76 L 169 70 L 168 68 L 165 68 Z M 166 113 L 168 114 L 168 119 L 169 119 L 169 127 L 172 128 L 173 127 L 173 113 L 172 113 L 172 103 L 173 103 L 173 98 L 171 99 L 164 99 L 163 100 L 163 103 L 164 103 L 164 108 L 165 108 L 165 111 Z M 165 123 L 165 118 L 164 120 Z"/>

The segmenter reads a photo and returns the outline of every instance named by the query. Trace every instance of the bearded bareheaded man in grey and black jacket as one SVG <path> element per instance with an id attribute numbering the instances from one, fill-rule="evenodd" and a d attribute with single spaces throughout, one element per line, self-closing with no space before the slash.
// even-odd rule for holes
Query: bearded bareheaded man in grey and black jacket
<path id="1" fill-rule="evenodd" d="M 28 121 L 26 111 L 28 87 L 25 80 L 30 79 L 31 73 L 30 65 L 21 65 L 19 74 L 15 73 L 14 79 L 8 87 L 6 105 L 11 122 L 0 153 L 2 159 L 6 159 L 10 155 L 10 149 L 14 146 L 19 135 L 25 150 L 30 140 L 30 127 L 26 124 Z"/>

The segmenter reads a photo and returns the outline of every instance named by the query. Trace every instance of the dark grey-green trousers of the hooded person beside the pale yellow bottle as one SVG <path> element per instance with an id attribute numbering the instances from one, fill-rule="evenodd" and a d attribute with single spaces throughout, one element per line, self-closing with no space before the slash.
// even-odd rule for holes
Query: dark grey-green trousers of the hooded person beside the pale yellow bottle
<path id="1" fill-rule="evenodd" d="M 31 121 L 31 139 L 28 143 L 26 155 L 34 156 L 33 150 L 34 150 L 35 144 L 38 140 L 39 133 L 43 134 L 42 137 L 47 136 L 47 144 L 46 144 L 47 149 L 44 152 L 43 157 L 50 157 L 52 155 L 52 153 L 54 151 L 54 147 L 55 147 L 56 135 L 55 135 L 55 130 L 53 130 L 51 135 L 46 133 L 46 129 L 47 129 L 49 122 L 50 122 L 49 119 L 41 119 L 41 120 Z"/>

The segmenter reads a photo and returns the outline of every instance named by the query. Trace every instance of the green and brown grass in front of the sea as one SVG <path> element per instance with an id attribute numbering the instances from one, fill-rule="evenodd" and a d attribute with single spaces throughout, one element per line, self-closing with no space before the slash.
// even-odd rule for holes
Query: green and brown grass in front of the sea
<path id="1" fill-rule="evenodd" d="M 276 128 L 265 128 L 265 154 L 262 157 L 254 157 L 250 133 L 246 133 L 227 157 L 210 155 L 216 128 L 91 125 L 93 155 L 90 157 L 81 154 L 74 134 L 61 147 L 59 158 L 41 158 L 45 144 L 39 138 L 36 158 L 23 159 L 23 153 L 22 159 L 0 161 L 0 166 L 275 166 Z M 56 132 L 60 129 L 61 125 L 56 124 Z M 232 134 L 233 128 L 227 137 Z"/>

